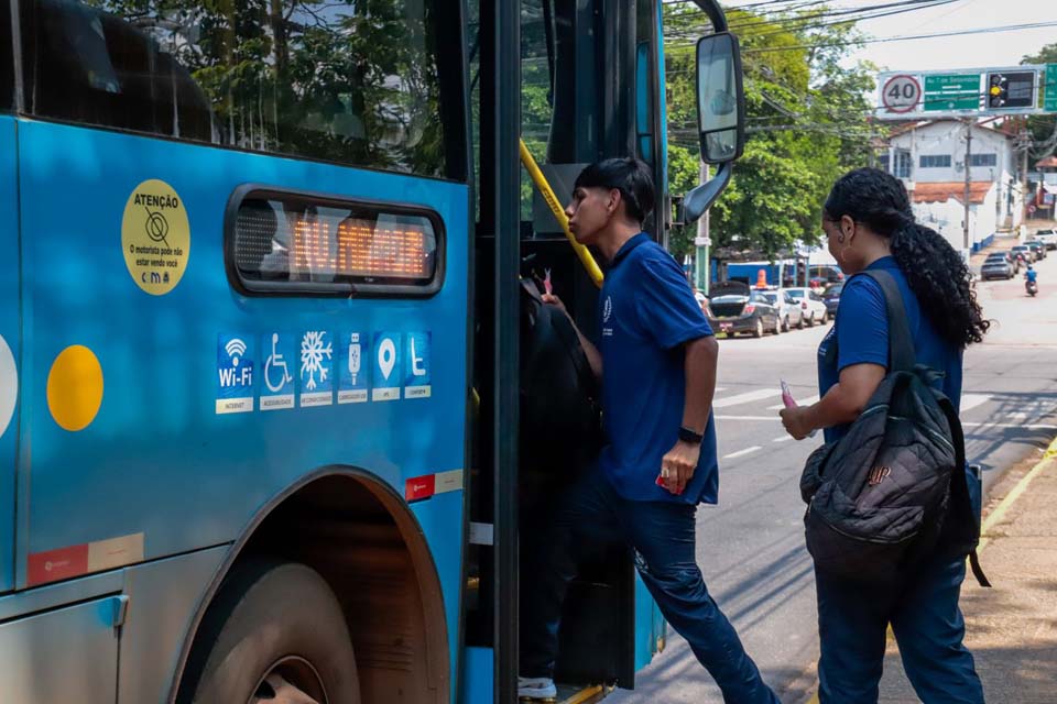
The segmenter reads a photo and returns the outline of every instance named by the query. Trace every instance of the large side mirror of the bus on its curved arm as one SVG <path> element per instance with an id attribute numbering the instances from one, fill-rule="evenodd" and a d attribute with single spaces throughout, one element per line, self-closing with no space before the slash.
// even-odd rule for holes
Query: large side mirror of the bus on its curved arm
<path id="1" fill-rule="evenodd" d="M 683 220 L 697 221 L 730 183 L 731 164 L 745 148 L 745 94 L 738 37 L 729 32 L 697 42 L 697 124 L 701 161 L 716 176 L 683 200 Z"/>

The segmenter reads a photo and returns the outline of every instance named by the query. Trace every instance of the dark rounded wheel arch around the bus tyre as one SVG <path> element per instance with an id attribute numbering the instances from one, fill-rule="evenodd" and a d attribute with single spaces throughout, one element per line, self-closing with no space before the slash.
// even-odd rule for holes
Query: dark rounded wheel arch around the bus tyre
<path id="1" fill-rule="evenodd" d="M 425 534 L 403 496 L 381 477 L 341 465 L 301 477 L 247 522 L 195 607 L 173 671 L 170 704 L 177 701 L 203 622 L 226 578 L 240 560 L 261 554 L 313 566 L 346 606 L 363 704 L 397 701 L 393 686 L 403 688 L 400 701 L 408 704 L 448 704 L 448 625 Z M 357 570 L 364 563 L 370 563 L 369 574 Z M 386 580 L 386 574 L 395 576 Z M 375 601 L 384 603 L 371 603 Z M 394 620 L 403 627 L 399 637 L 386 628 Z M 372 662 L 384 667 L 373 672 Z"/>

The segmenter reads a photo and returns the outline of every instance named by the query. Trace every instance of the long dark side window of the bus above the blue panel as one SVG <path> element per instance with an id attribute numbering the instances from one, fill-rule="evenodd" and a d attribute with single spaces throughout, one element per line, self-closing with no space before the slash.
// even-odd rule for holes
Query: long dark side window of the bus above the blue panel
<path id="1" fill-rule="evenodd" d="M 457 65 L 442 70 L 434 0 L 184 8 L 151 0 L 128 14 L 117 0 L 22 7 L 26 110 L 34 116 L 465 176 L 461 116 L 437 119 L 451 108 L 443 105 L 442 81 L 460 76 Z"/>

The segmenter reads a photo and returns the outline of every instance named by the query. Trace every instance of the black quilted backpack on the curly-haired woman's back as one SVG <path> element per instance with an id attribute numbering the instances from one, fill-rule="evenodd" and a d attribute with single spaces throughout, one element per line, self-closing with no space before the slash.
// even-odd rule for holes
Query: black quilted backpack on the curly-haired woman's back
<path id="1" fill-rule="evenodd" d="M 895 279 L 884 271 L 864 275 L 884 292 L 889 372 L 848 433 L 807 461 L 807 549 L 819 571 L 872 583 L 897 581 L 938 550 L 969 554 L 977 580 L 990 586 L 976 556 L 980 518 L 969 498 L 961 422 L 930 385 L 937 373 L 916 364 Z M 835 337 L 827 355 L 836 346 Z"/>

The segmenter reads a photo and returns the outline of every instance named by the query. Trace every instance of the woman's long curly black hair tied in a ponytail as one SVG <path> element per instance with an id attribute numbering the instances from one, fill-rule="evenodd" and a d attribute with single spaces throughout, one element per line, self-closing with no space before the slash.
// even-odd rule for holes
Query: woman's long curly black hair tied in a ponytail
<path id="1" fill-rule="evenodd" d="M 983 318 L 969 267 L 942 235 L 915 221 L 900 179 L 878 168 L 857 168 L 833 184 L 825 211 L 827 219 L 848 216 L 889 238 L 892 256 L 944 340 L 961 349 L 983 341 L 991 322 Z"/>

